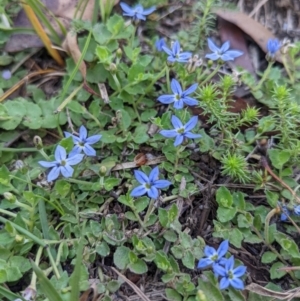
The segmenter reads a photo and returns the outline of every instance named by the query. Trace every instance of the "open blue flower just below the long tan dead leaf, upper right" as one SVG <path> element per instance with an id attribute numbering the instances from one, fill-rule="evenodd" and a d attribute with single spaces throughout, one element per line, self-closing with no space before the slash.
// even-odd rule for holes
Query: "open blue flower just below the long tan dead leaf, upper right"
<path id="1" fill-rule="evenodd" d="M 216 61 L 221 59 L 224 62 L 233 61 L 236 57 L 239 57 L 243 54 L 242 51 L 238 50 L 228 50 L 230 47 L 230 43 L 227 41 L 225 42 L 221 48 L 218 48 L 211 39 L 207 39 L 208 41 L 208 48 L 213 52 L 207 54 L 205 57 Z"/>

